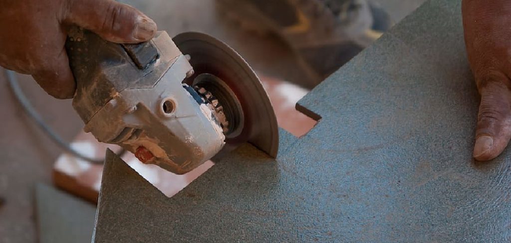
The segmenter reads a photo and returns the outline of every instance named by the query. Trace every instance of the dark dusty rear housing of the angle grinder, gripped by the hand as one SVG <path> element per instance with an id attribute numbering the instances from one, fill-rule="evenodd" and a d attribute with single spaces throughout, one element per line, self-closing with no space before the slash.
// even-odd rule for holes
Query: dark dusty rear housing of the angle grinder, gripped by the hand
<path id="1" fill-rule="evenodd" d="M 117 44 L 77 26 L 69 31 L 65 48 L 77 85 L 73 106 L 85 123 L 115 93 L 147 86 L 143 77 L 158 59 L 152 41 Z"/>

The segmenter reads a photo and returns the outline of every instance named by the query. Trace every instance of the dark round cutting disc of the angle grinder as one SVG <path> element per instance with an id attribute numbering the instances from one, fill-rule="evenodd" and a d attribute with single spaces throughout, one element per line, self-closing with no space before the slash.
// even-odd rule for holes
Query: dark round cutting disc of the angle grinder
<path id="1" fill-rule="evenodd" d="M 244 142 L 276 157 L 278 151 L 277 119 L 268 94 L 254 71 L 227 44 L 206 34 L 188 32 L 173 38 L 183 55 L 190 55 L 194 75 L 185 79 L 191 84 L 200 74 L 213 74 L 235 93 L 241 103 L 243 130 L 227 138 L 224 150 L 232 150 Z"/>

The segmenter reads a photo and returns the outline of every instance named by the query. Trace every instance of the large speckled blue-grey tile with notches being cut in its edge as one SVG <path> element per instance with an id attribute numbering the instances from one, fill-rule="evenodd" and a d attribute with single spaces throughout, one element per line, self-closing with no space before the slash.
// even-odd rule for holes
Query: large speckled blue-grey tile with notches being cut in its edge
<path id="1" fill-rule="evenodd" d="M 511 155 L 472 159 L 478 102 L 460 1 L 427 2 L 299 101 L 322 119 L 276 160 L 243 146 L 166 198 L 110 159 L 95 242 L 508 242 Z"/>

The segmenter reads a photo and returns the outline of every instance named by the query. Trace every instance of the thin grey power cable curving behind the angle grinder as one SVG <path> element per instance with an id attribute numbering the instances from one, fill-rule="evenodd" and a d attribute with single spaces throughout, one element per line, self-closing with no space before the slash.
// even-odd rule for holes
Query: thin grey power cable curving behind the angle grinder
<path id="1" fill-rule="evenodd" d="M 14 93 L 14 96 L 18 100 L 18 102 L 21 104 L 25 112 L 36 122 L 36 124 L 41 128 L 41 130 L 44 131 L 50 137 L 53 142 L 55 142 L 60 148 L 62 148 L 64 151 L 81 158 L 83 160 L 87 160 L 90 163 L 94 164 L 103 164 L 104 159 L 95 159 L 90 158 L 88 156 L 85 156 L 69 146 L 69 143 L 65 142 L 48 124 L 44 122 L 42 117 L 37 113 L 37 111 L 34 109 L 30 101 L 27 99 L 23 91 L 21 90 L 21 87 L 19 87 L 18 79 L 16 78 L 16 73 L 11 70 L 5 69 L 5 73 L 7 75 L 7 81 L 9 82 L 9 85 L 11 87 L 12 92 Z M 119 152 L 118 156 L 122 156 L 126 150 L 121 150 Z"/>

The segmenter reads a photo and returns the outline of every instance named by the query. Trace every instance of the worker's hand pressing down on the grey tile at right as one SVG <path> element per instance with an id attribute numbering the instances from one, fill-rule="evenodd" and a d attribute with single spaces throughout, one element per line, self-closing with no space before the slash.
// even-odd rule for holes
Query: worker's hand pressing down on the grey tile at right
<path id="1" fill-rule="evenodd" d="M 465 43 L 481 104 L 474 158 L 497 157 L 511 138 L 511 1 L 463 0 Z"/>

